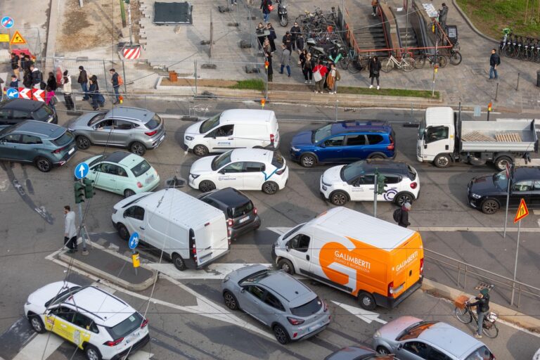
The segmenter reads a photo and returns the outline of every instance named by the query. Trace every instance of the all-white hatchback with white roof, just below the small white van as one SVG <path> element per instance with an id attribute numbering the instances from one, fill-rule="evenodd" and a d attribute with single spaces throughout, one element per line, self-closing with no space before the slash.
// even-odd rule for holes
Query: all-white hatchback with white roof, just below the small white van
<path id="1" fill-rule="evenodd" d="M 189 170 L 189 185 L 203 193 L 231 187 L 275 194 L 285 187 L 288 178 L 285 159 L 264 149 L 235 149 L 207 156 L 193 162 Z"/>

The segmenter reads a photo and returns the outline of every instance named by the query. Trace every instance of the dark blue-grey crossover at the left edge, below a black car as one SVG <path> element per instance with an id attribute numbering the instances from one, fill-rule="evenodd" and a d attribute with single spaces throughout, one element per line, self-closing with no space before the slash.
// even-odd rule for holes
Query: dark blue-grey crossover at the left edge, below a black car
<path id="1" fill-rule="evenodd" d="M 76 152 L 75 137 L 65 127 L 27 120 L 0 129 L 0 160 L 31 162 L 40 171 L 49 172 Z"/>

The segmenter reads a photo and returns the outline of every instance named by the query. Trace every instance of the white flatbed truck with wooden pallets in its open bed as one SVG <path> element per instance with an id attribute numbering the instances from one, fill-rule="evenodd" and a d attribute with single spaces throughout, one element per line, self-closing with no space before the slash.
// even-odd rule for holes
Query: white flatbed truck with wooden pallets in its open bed
<path id="1" fill-rule="evenodd" d="M 453 162 L 484 165 L 493 162 L 499 170 L 516 160 L 538 153 L 534 119 L 461 121 L 452 108 L 427 108 L 418 127 L 416 158 L 448 167 Z"/>

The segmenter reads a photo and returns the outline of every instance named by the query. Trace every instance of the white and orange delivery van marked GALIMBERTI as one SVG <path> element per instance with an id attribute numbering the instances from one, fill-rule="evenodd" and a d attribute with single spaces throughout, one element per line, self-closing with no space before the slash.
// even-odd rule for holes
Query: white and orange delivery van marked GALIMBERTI
<path id="1" fill-rule="evenodd" d="M 279 269 L 357 297 L 364 309 L 392 308 L 420 288 L 424 251 L 416 231 L 335 207 L 272 245 Z"/>

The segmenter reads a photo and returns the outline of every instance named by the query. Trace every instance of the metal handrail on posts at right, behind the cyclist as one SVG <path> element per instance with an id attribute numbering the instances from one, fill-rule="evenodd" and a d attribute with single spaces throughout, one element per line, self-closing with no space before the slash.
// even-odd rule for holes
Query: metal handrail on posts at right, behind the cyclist
<path id="1" fill-rule="evenodd" d="M 433 255 L 436 255 L 437 257 L 443 257 L 444 259 L 448 259 L 448 260 L 450 260 L 450 261 L 452 261 L 454 263 L 457 263 L 457 265 L 456 264 L 450 264 L 449 262 L 444 262 L 441 259 L 437 259 L 435 257 L 426 255 L 426 252 L 431 253 Z M 447 255 L 440 254 L 439 252 L 435 252 L 433 250 L 424 249 L 424 256 L 426 258 L 428 258 L 428 259 L 431 259 L 431 260 L 435 261 L 435 262 L 439 262 L 441 264 L 445 264 L 447 266 L 451 266 L 451 267 L 455 268 L 458 271 L 458 278 L 457 278 L 457 281 L 456 281 L 456 285 L 458 285 L 458 287 L 461 286 L 460 285 L 460 278 L 461 278 L 461 271 L 463 271 L 463 276 L 464 276 L 464 278 L 463 278 L 463 287 L 462 287 L 463 289 L 466 286 L 467 274 L 469 273 L 471 275 L 476 275 L 476 276 L 485 278 L 485 279 L 487 279 L 489 281 L 492 281 L 494 283 L 498 283 L 499 285 L 506 286 L 510 290 L 517 290 L 518 291 L 518 304 L 516 304 L 517 307 L 520 307 L 521 293 L 532 295 L 534 297 L 539 298 L 539 300 L 540 300 L 540 288 L 536 288 L 533 285 L 529 285 L 527 283 L 522 283 L 521 281 L 513 280 L 511 278 L 507 278 L 506 276 L 502 276 L 502 275 L 496 274 L 496 273 L 494 273 L 492 271 L 482 269 L 481 267 L 471 265 L 471 264 L 468 264 L 466 262 L 462 262 L 461 260 L 454 259 L 453 257 L 449 257 Z M 490 278 L 488 276 L 478 274 L 475 271 L 470 271 L 470 269 L 477 270 L 477 271 L 482 271 L 482 273 L 489 274 L 492 277 Z M 516 285 L 519 285 L 519 286 L 516 287 Z M 523 288 L 529 289 L 530 291 L 529 290 L 524 290 Z M 532 293 L 532 291 L 536 291 L 538 293 Z M 510 301 L 510 305 L 513 305 L 512 301 Z"/>

